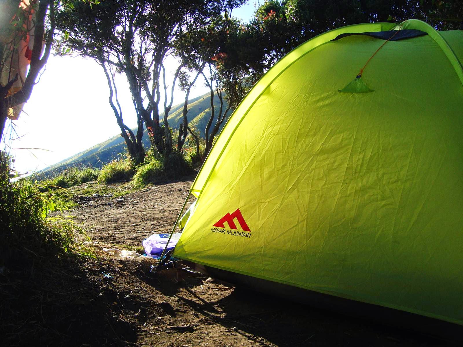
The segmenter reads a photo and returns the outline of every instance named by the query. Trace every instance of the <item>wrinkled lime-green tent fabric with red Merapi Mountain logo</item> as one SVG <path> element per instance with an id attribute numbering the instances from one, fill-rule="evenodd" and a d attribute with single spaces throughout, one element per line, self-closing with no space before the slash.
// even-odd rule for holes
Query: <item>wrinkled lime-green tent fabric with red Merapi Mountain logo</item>
<path id="1" fill-rule="evenodd" d="M 426 35 L 331 41 L 399 28 Z M 174 256 L 463 325 L 462 56 L 418 20 L 288 53 L 220 133 Z M 370 58 L 372 92 L 340 93 Z"/>

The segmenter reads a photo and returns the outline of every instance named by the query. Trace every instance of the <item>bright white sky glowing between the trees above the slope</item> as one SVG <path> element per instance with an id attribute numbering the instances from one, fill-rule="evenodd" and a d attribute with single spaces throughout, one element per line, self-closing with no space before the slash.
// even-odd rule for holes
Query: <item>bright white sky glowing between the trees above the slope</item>
<path id="1" fill-rule="evenodd" d="M 232 15 L 249 21 L 255 3 L 248 2 L 233 10 Z M 168 71 L 175 68 L 173 64 L 167 66 Z M 134 128 L 136 118 L 128 82 L 119 75 L 116 83 L 125 124 Z M 207 91 L 199 80 L 190 98 Z M 96 62 L 81 57 L 50 56 L 19 120 L 14 121 L 14 125 L 10 121 L 6 124 L 4 140 L 11 146 L 6 150 L 15 159 L 14 168 L 20 173 L 34 172 L 119 134 L 108 96 L 106 77 Z M 177 89 L 174 105 L 184 98 L 184 93 Z"/>

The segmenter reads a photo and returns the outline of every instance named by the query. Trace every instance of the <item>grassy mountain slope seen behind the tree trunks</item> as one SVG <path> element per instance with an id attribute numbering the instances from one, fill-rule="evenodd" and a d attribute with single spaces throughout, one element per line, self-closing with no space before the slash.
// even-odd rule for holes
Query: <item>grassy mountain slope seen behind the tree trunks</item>
<path id="1" fill-rule="evenodd" d="M 206 124 L 211 114 L 210 102 L 210 94 L 206 93 L 197 98 L 189 100 L 188 103 L 188 124 L 190 126 L 194 126 L 196 130 L 199 130 L 201 137 L 204 137 Z M 219 111 L 219 106 L 219 99 L 216 97 L 214 98 L 214 108 L 216 112 Z M 224 110 L 225 108 L 226 102 L 224 102 Z M 178 130 L 178 127 L 182 122 L 182 117 L 183 103 L 173 106 L 168 119 L 169 126 L 174 129 L 174 132 Z M 146 129 L 143 135 L 143 144 L 146 149 L 150 148 L 150 141 L 148 139 L 148 133 Z M 57 162 L 50 167 L 46 167 L 45 169 L 39 171 L 38 174 L 40 176 L 47 176 L 51 172 L 61 172 L 66 167 L 75 165 L 91 165 L 93 167 L 101 167 L 103 163 L 111 161 L 113 158 L 118 158 L 122 153 L 125 153 L 125 142 L 124 138 L 118 134 L 102 143 L 98 143 L 89 149 L 64 159 L 63 161 Z"/>

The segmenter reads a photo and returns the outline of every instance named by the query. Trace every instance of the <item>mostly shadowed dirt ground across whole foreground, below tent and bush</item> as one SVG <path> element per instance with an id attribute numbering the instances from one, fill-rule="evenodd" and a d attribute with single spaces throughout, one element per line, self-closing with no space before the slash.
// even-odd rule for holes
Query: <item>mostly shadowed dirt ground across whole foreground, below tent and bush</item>
<path id="1" fill-rule="evenodd" d="M 444 345 L 199 275 L 154 278 L 151 265 L 101 258 L 2 270 L 0 345 L 199 346 L 209 333 L 214 347 Z"/>

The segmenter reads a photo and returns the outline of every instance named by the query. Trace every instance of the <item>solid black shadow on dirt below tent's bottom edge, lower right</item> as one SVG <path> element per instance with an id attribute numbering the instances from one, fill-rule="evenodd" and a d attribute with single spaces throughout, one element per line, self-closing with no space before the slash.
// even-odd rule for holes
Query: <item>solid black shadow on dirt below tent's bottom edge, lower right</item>
<path id="1" fill-rule="evenodd" d="M 436 346 L 443 341 L 237 288 L 217 303 L 225 326 L 277 346 Z"/>

